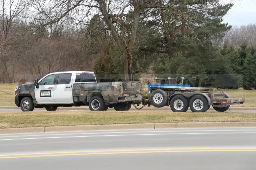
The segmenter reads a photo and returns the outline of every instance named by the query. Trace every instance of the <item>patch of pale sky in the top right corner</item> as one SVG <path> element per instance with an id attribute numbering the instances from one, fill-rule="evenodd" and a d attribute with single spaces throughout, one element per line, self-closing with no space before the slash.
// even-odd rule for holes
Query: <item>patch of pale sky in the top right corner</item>
<path id="1" fill-rule="evenodd" d="M 233 0 L 231 2 L 234 6 L 224 16 L 224 23 L 233 26 L 247 25 L 250 23 L 256 24 L 256 0 Z"/>

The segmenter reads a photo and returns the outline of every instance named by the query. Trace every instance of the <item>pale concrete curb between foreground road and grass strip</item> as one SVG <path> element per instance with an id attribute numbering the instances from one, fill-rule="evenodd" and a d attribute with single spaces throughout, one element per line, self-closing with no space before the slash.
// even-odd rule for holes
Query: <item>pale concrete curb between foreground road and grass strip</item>
<path id="1" fill-rule="evenodd" d="M 200 127 L 256 127 L 256 122 L 182 122 L 182 123 L 141 123 L 141 124 L 107 124 L 49 126 L 0 129 L 0 134 L 63 132 L 89 130 L 124 130 L 124 129 L 164 129 L 164 128 L 200 128 Z"/>

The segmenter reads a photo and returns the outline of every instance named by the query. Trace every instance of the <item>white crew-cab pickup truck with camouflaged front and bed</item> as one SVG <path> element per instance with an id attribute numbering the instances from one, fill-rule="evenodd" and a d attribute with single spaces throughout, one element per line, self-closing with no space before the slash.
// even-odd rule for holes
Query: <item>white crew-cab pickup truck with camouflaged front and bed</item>
<path id="1" fill-rule="evenodd" d="M 126 111 L 132 103 L 142 101 L 141 82 L 97 83 L 93 72 L 50 73 L 34 83 L 17 85 L 15 104 L 22 111 L 45 107 L 55 111 L 59 106 L 89 105 L 90 110 L 101 111 L 113 108 Z"/>

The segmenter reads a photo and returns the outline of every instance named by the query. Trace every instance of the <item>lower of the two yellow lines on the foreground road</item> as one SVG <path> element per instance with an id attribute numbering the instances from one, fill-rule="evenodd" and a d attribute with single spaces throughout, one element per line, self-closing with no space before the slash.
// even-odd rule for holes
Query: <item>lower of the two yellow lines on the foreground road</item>
<path id="1" fill-rule="evenodd" d="M 256 149 L 237 149 L 237 150 L 171 150 L 171 151 L 144 151 L 144 152 L 106 152 L 106 153 L 78 153 L 78 154 L 58 154 L 58 155 L 31 155 L 31 156 L 11 156 L 0 157 L 0 159 L 9 158 L 34 158 L 50 156 L 77 156 L 77 155 L 107 155 L 107 154 L 131 154 L 131 153 L 178 153 L 178 152 L 235 152 L 235 151 L 256 151 Z"/>

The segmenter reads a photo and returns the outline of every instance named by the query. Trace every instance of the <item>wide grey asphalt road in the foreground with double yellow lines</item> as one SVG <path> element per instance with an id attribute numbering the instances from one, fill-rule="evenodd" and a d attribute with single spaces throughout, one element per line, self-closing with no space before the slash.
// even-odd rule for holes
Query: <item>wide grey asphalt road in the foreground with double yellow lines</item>
<path id="1" fill-rule="evenodd" d="M 255 170 L 256 128 L 0 135 L 3 170 Z"/>

